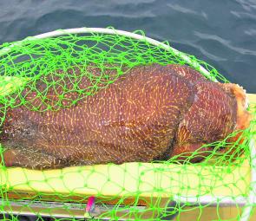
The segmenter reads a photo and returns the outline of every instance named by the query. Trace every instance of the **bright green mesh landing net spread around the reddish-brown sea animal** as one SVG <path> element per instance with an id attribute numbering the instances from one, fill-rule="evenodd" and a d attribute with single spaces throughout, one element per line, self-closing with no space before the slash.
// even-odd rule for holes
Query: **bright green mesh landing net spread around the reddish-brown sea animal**
<path id="1" fill-rule="evenodd" d="M 110 30 L 113 33 L 91 29 L 87 33 L 70 34 L 60 30 L 61 35 L 29 37 L 1 45 L 1 125 L 8 108 L 25 106 L 35 112 L 69 108 L 86 96 L 108 88 L 130 68 L 141 65 L 186 64 L 211 81 L 228 82 L 215 68 L 193 55 L 170 48 L 168 42 L 155 45 L 141 31 L 133 33 L 141 35 L 141 39 L 135 39 Z M 113 69 L 115 72 L 111 71 Z M 90 83 L 82 87 L 80 82 L 85 78 Z M 50 98 L 47 93 L 56 88 L 62 89 L 56 91 L 54 99 Z M 67 96 L 74 93 L 73 99 Z M 27 94 L 36 94 L 35 99 L 26 99 Z M 253 102 L 248 109 L 255 116 Z M 210 144 L 212 153 L 197 164 L 189 160 L 179 164 L 173 158 L 153 163 L 33 171 L 9 168 L 2 162 L 0 209 L 3 220 L 19 220 L 28 214 L 36 220 L 246 218 L 253 211 L 252 196 L 256 196 L 256 183 L 251 181 L 251 172 L 256 170 L 256 159 L 251 158 L 254 127 L 255 118 L 235 143 L 227 141 L 236 135 L 233 133 L 225 140 Z M 220 149 L 225 146 L 230 151 L 223 153 Z M 1 146 L 2 157 L 3 152 L 4 146 Z M 87 212 L 92 196 L 95 206 Z M 230 207 L 226 209 L 226 206 Z"/>

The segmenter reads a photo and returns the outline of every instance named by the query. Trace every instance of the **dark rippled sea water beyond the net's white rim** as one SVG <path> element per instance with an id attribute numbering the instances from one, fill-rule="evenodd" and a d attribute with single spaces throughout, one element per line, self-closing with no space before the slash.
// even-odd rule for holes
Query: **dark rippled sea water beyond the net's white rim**
<path id="1" fill-rule="evenodd" d="M 167 40 L 256 93 L 256 0 L 0 1 L 0 43 L 107 26 Z"/>

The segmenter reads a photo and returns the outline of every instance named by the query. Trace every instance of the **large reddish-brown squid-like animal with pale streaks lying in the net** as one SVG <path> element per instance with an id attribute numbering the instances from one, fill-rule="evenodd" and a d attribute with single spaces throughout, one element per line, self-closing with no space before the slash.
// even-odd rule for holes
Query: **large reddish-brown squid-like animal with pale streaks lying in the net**
<path id="1" fill-rule="evenodd" d="M 89 85 L 84 79 L 80 83 Z M 47 96 L 59 99 L 61 88 Z M 74 93 L 66 96 L 77 99 Z M 26 100 L 37 106 L 41 101 L 33 92 Z M 49 169 L 170 159 L 248 127 L 244 100 L 238 86 L 208 81 L 187 66 L 132 68 L 70 107 L 9 108 L 0 138 L 3 161 L 5 166 Z"/>

